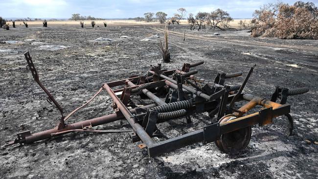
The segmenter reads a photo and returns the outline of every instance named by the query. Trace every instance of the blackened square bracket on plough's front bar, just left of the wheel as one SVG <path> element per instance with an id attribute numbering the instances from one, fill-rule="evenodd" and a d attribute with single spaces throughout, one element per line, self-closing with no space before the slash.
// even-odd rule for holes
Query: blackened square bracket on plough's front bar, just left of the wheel
<path id="1" fill-rule="evenodd" d="M 204 143 L 218 140 L 221 136 L 221 128 L 219 123 L 211 124 L 203 128 Z"/>

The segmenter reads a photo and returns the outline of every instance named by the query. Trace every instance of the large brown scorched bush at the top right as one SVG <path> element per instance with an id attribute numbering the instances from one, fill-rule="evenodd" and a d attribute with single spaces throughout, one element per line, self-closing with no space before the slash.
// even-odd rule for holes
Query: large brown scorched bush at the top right
<path id="1" fill-rule="evenodd" d="M 318 39 L 318 8 L 314 3 L 276 4 L 255 11 L 251 36 Z"/>

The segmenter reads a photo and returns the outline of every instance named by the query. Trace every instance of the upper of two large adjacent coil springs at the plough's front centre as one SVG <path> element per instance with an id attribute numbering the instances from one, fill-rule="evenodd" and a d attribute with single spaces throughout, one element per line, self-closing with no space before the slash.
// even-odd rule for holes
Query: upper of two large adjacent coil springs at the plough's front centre
<path id="1" fill-rule="evenodd" d="M 184 101 L 177 101 L 173 103 L 168 103 L 166 105 L 157 106 L 151 108 L 150 110 L 154 110 L 157 112 L 174 112 L 182 109 L 188 109 L 192 106 L 192 100 L 184 100 Z"/>

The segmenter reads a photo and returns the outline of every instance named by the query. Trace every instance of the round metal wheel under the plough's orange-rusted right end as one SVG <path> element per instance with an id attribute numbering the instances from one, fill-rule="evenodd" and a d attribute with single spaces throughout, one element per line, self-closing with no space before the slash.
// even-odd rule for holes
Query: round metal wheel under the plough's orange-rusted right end
<path id="1" fill-rule="evenodd" d="M 235 119 L 234 115 L 227 115 L 220 119 L 220 124 Z M 227 134 L 222 134 L 215 145 L 223 152 L 237 154 L 247 147 L 250 143 L 252 131 L 251 127 L 245 127 Z"/>

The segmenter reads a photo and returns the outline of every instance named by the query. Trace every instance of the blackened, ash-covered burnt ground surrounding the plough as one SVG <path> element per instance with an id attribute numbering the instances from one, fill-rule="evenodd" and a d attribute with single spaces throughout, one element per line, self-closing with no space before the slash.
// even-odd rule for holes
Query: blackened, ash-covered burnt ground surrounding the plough
<path id="1" fill-rule="evenodd" d="M 163 38 L 158 28 L 118 23 L 107 28 L 0 29 L 0 41 L 7 41 L 0 44 L 0 145 L 18 132 L 51 129 L 60 117 L 26 69 L 25 51 L 30 51 L 40 80 L 68 113 L 90 99 L 101 84 L 143 74 L 150 65 L 161 63 L 158 45 Z M 308 87 L 308 93 L 288 99 L 294 135 L 285 135 L 287 118 L 278 117 L 272 125 L 254 126 L 249 146 L 236 156 L 220 152 L 214 143 L 198 143 L 149 158 L 127 133 L 66 134 L 0 149 L 0 178 L 317 178 L 318 41 L 251 38 L 246 31 L 218 31 L 221 35 L 213 36 L 216 31 L 190 31 L 188 26 L 170 25 L 169 30 L 172 62 L 163 68 L 203 60 L 204 65 L 195 67 L 198 76 L 213 80 L 218 71 L 242 70 L 246 75 L 256 64 L 244 91 L 265 98 L 271 97 L 275 86 Z M 244 75 L 226 83 L 241 84 L 243 79 Z M 104 91 L 68 122 L 113 113 L 111 103 Z M 192 120 L 192 124 L 184 118 L 174 120 L 159 129 L 171 137 L 213 121 L 206 113 Z M 116 121 L 98 129 L 129 129 L 129 125 Z"/>

